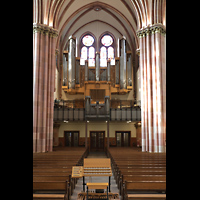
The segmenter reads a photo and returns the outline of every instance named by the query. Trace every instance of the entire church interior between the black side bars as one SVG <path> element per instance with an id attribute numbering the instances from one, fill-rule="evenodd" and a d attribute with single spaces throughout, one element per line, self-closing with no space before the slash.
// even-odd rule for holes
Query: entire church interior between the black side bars
<path id="1" fill-rule="evenodd" d="M 33 199 L 89 198 L 166 199 L 166 0 L 33 0 Z"/>

